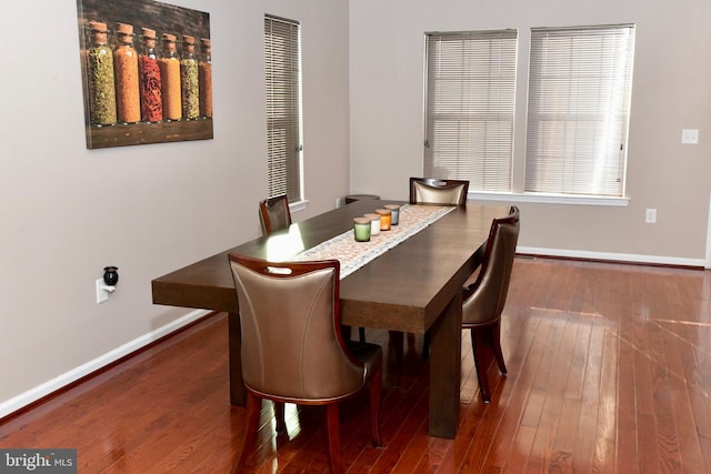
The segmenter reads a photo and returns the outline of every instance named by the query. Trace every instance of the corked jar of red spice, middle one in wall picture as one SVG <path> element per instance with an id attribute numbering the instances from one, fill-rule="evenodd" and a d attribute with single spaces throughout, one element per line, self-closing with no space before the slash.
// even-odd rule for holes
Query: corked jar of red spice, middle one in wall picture
<path id="1" fill-rule="evenodd" d="M 143 28 L 143 46 L 138 57 L 141 95 L 141 120 L 157 123 L 163 120 L 163 98 L 161 95 L 160 68 L 156 51 L 156 31 Z"/>

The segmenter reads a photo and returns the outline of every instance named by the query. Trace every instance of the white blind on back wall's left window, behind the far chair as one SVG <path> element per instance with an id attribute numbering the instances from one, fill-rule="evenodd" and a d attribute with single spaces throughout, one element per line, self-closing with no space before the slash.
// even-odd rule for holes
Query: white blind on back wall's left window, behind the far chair
<path id="1" fill-rule="evenodd" d="M 517 31 L 427 34 L 424 175 L 510 191 Z"/>

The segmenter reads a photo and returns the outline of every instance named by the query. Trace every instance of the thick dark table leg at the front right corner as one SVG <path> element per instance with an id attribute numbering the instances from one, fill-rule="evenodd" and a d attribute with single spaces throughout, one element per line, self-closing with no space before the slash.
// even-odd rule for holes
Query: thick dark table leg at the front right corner
<path id="1" fill-rule="evenodd" d="M 462 294 L 430 329 L 430 436 L 454 438 L 459 425 Z"/>

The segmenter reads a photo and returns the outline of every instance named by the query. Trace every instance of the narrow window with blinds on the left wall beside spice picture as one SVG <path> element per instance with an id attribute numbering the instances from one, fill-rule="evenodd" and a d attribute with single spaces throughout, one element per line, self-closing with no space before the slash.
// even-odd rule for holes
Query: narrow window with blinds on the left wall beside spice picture
<path id="1" fill-rule="evenodd" d="M 264 17 L 269 196 L 303 200 L 299 23 Z"/>

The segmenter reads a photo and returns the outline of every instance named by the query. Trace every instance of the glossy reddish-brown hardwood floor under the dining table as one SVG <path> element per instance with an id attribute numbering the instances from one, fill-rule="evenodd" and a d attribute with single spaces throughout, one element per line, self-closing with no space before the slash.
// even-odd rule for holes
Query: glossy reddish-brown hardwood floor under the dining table
<path id="1" fill-rule="evenodd" d="M 368 331 L 387 345 L 387 333 Z M 360 473 L 711 473 L 711 273 L 518 259 L 502 323 L 509 374 L 479 397 L 462 333 L 460 427 L 430 437 L 421 337 L 407 342 L 384 446 L 367 397 L 342 409 L 343 457 Z M 244 410 L 229 405 L 227 317 L 211 316 L 0 424 L 0 447 L 76 447 L 80 473 L 229 473 Z M 385 347 L 385 353 L 387 353 Z M 323 412 L 263 406 L 257 473 L 327 473 Z"/>

